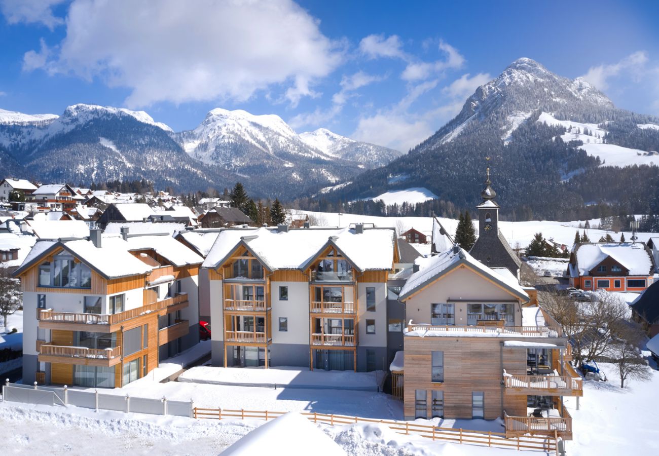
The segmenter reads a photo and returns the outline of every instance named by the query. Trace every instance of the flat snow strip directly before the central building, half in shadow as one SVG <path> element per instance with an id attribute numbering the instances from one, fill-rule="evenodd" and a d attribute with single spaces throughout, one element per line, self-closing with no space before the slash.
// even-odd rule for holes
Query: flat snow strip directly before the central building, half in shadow
<path id="1" fill-rule="evenodd" d="M 378 391 L 384 372 L 302 370 L 281 366 L 270 369 L 236 369 L 198 366 L 186 370 L 179 382 L 256 387 L 333 388 Z"/>

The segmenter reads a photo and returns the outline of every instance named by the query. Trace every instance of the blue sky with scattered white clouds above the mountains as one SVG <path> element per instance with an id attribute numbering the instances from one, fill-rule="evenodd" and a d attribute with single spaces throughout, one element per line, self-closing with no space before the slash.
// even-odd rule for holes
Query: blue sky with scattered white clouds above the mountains
<path id="1" fill-rule="evenodd" d="M 214 107 L 407 150 L 511 61 L 659 115 L 656 1 L 0 0 L 0 108 Z"/>

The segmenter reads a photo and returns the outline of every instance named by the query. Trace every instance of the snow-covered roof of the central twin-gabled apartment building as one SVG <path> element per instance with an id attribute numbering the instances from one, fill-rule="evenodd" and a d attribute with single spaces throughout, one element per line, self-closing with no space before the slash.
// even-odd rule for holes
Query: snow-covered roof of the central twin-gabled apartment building
<path id="1" fill-rule="evenodd" d="M 243 238 L 243 239 L 241 239 Z M 395 231 L 393 229 L 225 229 L 217 235 L 204 268 L 217 268 L 244 242 L 266 268 L 302 269 L 320 251 L 333 244 L 358 270 L 389 270 L 393 265 Z"/>

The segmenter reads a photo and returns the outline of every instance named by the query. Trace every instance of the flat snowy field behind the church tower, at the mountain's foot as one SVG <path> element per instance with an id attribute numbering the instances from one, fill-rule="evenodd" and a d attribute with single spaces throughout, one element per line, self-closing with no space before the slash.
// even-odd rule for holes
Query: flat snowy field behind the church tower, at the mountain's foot
<path id="1" fill-rule="evenodd" d="M 395 228 L 397 224 L 402 224 L 404 227 L 415 227 L 419 231 L 432 231 L 432 217 L 377 217 L 375 215 L 358 215 L 358 214 L 343 214 L 340 215 L 336 212 L 311 212 L 311 211 L 293 211 L 295 214 L 308 214 L 313 215 L 318 221 L 319 225 L 328 227 L 347 227 L 351 223 L 374 223 L 377 227 L 392 227 Z M 457 220 L 438 217 L 439 221 L 444 226 L 444 229 L 455 238 L 455 229 L 457 228 Z M 590 225 L 598 224 L 599 219 L 594 219 Z M 532 220 L 532 221 L 500 221 L 499 230 L 505 237 L 511 247 L 515 248 L 515 244 L 519 242 L 519 246 L 526 247 L 533 239 L 535 233 L 542 233 L 545 239 L 554 239 L 555 242 L 571 246 L 575 239 L 575 233 L 583 233 L 583 228 L 578 228 L 579 223 L 585 221 L 547 221 L 547 220 Z M 478 221 L 474 221 L 476 233 L 478 233 Z M 587 229 L 588 237 L 593 241 L 606 237 L 609 233 L 616 241 L 620 239 L 620 233 L 613 231 L 605 231 L 602 229 Z M 631 233 L 625 231 L 625 239 L 631 239 Z M 639 242 L 647 242 L 650 237 L 656 237 L 656 233 L 636 233 L 639 237 Z"/>

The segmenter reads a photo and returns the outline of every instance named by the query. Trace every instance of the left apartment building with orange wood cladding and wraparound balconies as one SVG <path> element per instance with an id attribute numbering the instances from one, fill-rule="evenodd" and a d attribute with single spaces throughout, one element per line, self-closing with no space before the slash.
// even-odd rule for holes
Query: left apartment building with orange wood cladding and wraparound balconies
<path id="1" fill-rule="evenodd" d="M 23 291 L 23 380 L 121 387 L 198 342 L 203 259 L 168 236 L 38 241 Z"/>

